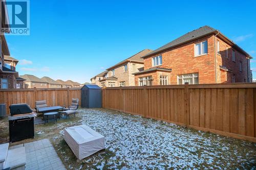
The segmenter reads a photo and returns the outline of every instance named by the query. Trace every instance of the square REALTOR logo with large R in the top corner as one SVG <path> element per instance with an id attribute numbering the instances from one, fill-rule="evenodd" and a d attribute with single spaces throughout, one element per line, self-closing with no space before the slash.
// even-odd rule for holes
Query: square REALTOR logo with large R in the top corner
<path id="1" fill-rule="evenodd" d="M 29 35 L 29 1 L 6 1 L 1 3 L 1 33 L 7 35 Z"/>

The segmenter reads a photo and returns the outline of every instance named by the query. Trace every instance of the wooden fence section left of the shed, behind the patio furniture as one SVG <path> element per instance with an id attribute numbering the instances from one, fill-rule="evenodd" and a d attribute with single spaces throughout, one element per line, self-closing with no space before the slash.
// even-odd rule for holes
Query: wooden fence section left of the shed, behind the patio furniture
<path id="1" fill-rule="evenodd" d="M 0 104 L 6 104 L 7 115 L 11 104 L 27 103 L 33 109 L 35 101 L 46 100 L 48 106 L 69 106 L 72 98 L 81 104 L 80 88 L 0 89 Z"/>

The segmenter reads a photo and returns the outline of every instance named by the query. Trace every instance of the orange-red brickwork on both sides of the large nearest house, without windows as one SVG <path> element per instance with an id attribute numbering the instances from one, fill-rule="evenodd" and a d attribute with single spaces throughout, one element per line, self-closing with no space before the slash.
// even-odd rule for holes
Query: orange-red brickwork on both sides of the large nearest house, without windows
<path id="1" fill-rule="evenodd" d="M 207 40 L 208 53 L 202 56 L 195 56 L 195 44 Z M 215 43 L 216 40 L 216 43 Z M 217 40 L 220 41 L 220 54 L 217 55 Z M 225 58 L 226 46 L 228 46 L 228 58 Z M 215 39 L 214 35 L 207 35 L 197 40 L 187 42 L 172 49 L 166 50 L 159 54 L 144 59 L 144 70 L 152 68 L 152 58 L 162 55 L 162 65 L 157 67 L 172 68 L 172 72 L 169 75 L 169 84 L 177 84 L 177 75 L 190 74 L 198 72 L 199 83 L 231 83 L 233 74 L 236 75 L 236 82 L 247 82 L 247 65 L 246 56 L 235 49 L 236 62 L 233 62 L 232 49 L 230 45 L 221 40 L 219 37 Z M 216 57 L 215 52 L 216 51 Z M 216 58 L 216 59 L 215 59 Z M 243 63 L 242 72 L 239 71 L 239 62 Z M 216 62 L 216 63 L 215 63 Z M 226 66 L 231 69 L 232 72 L 223 71 L 220 69 L 220 65 Z M 216 73 L 217 74 L 216 74 Z M 146 73 L 135 76 L 135 85 L 138 84 L 138 78 L 144 76 L 153 76 L 154 79 L 159 79 L 156 73 Z M 153 81 L 153 85 L 160 85 L 160 80 Z"/>

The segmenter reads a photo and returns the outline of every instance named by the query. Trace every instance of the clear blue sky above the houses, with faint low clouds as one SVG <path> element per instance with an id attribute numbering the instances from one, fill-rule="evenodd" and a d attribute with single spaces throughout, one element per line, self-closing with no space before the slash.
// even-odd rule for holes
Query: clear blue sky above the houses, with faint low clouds
<path id="1" fill-rule="evenodd" d="M 30 35 L 6 36 L 19 75 L 89 82 L 105 68 L 208 25 L 240 45 L 256 79 L 256 1 L 30 1 Z"/>

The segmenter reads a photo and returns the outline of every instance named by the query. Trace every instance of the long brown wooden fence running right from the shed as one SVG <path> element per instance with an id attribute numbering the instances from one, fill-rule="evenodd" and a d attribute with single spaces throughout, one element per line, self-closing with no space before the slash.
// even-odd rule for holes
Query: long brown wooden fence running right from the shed
<path id="1" fill-rule="evenodd" d="M 256 84 L 111 87 L 102 107 L 256 142 Z"/>

